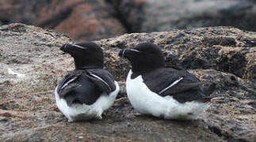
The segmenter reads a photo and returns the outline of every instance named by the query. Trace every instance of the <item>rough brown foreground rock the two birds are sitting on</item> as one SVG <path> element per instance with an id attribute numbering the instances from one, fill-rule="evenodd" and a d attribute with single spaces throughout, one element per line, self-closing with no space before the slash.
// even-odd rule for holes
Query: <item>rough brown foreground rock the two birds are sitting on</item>
<path id="1" fill-rule="evenodd" d="M 59 50 L 73 41 L 63 33 L 25 24 L 2 26 L 0 141 L 255 141 L 255 36 L 215 27 L 95 41 L 121 92 L 103 120 L 68 123 L 55 106 L 53 90 L 74 69 L 72 58 Z M 128 62 L 117 53 L 144 41 L 162 47 L 166 64 L 182 65 L 201 81 L 216 83 L 216 97 L 199 120 L 135 115 L 124 90 Z"/>

